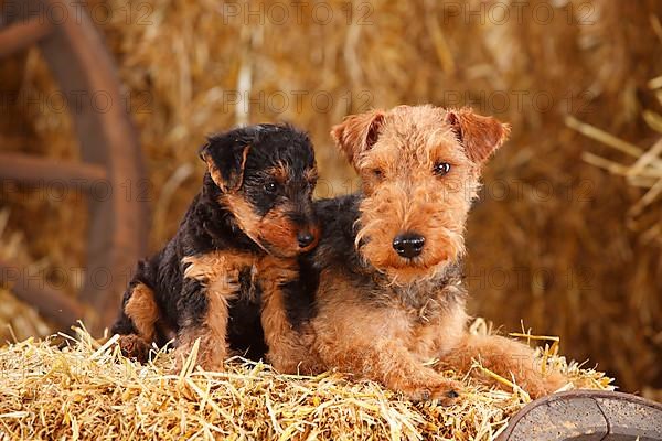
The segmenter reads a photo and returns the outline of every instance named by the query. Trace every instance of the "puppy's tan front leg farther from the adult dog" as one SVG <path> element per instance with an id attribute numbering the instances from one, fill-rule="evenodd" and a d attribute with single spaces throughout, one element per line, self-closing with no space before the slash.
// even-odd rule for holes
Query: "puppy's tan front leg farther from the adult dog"
<path id="1" fill-rule="evenodd" d="M 228 355 L 228 301 L 238 290 L 237 270 L 217 269 L 213 278 L 195 278 L 188 271 L 179 304 L 178 369 L 181 369 L 199 338 L 197 363 L 206 370 L 224 369 L 223 362 Z"/>

